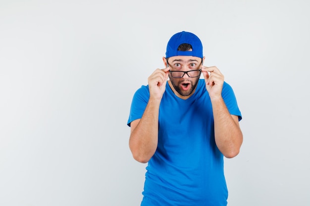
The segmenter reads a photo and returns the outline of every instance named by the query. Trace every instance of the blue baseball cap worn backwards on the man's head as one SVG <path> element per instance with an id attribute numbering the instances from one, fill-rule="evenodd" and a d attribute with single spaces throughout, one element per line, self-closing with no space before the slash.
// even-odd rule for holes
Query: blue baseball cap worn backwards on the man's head
<path id="1" fill-rule="evenodd" d="M 178 47 L 182 43 L 191 44 L 193 51 L 178 51 Z M 171 56 L 197 56 L 203 58 L 203 44 L 193 33 L 184 31 L 176 33 L 167 44 L 166 58 Z"/>

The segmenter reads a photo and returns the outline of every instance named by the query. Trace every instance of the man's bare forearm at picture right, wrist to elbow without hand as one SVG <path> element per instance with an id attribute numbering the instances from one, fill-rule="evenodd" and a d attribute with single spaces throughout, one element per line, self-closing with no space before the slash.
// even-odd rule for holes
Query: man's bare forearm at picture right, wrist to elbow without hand
<path id="1" fill-rule="evenodd" d="M 226 158 L 238 155 L 243 135 L 238 117 L 232 117 L 222 98 L 211 99 L 214 117 L 214 136 L 218 149 Z"/>

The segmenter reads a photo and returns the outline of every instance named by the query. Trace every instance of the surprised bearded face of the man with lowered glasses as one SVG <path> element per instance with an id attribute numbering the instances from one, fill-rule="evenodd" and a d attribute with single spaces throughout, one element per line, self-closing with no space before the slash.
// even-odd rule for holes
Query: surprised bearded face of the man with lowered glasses
<path id="1" fill-rule="evenodd" d="M 194 56 L 173 56 L 168 59 L 170 82 L 181 96 L 189 96 L 194 92 L 200 78 L 202 61 Z"/>

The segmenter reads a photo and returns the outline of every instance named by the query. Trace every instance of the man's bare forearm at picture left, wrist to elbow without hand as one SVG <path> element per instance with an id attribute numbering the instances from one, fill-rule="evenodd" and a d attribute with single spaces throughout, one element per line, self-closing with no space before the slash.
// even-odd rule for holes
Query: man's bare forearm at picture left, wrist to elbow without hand
<path id="1" fill-rule="evenodd" d="M 129 147 L 138 162 L 147 163 L 157 149 L 159 105 L 160 100 L 149 100 L 141 120 L 131 131 Z"/>

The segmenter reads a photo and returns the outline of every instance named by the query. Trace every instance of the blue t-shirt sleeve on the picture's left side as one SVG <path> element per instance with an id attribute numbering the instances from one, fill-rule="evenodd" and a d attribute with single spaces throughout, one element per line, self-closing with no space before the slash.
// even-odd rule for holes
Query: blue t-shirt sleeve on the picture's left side
<path id="1" fill-rule="evenodd" d="M 150 98 L 149 86 L 141 86 L 134 94 L 130 113 L 127 125 L 130 126 L 130 123 L 134 120 L 142 118 L 142 115 L 147 107 Z"/>

